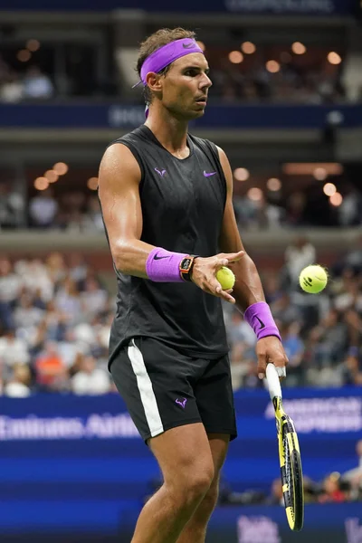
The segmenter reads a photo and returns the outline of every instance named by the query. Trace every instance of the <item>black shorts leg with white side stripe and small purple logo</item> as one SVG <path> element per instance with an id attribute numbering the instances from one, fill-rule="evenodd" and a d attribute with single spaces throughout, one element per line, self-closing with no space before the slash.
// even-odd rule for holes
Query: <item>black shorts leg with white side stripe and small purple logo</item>
<path id="1" fill-rule="evenodd" d="M 134 338 L 110 373 L 142 438 L 200 423 L 190 375 L 192 359 L 153 338 Z"/>

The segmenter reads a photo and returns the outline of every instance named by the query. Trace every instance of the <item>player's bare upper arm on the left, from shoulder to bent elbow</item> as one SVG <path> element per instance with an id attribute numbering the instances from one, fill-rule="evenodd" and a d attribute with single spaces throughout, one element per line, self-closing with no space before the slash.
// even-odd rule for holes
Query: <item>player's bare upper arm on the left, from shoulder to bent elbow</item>
<path id="1" fill-rule="evenodd" d="M 107 149 L 100 163 L 99 196 L 112 252 L 119 244 L 141 236 L 140 177 L 129 148 L 116 144 Z"/>

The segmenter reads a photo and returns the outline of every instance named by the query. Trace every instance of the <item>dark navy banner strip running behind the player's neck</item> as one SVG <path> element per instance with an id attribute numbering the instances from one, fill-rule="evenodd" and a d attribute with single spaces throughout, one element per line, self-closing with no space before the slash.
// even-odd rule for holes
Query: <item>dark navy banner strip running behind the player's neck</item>
<path id="1" fill-rule="evenodd" d="M 122 104 L 0 104 L 0 128 L 135 129 L 145 121 L 143 106 Z M 362 126 L 360 105 L 208 105 L 190 124 L 200 129 L 323 129 Z"/>

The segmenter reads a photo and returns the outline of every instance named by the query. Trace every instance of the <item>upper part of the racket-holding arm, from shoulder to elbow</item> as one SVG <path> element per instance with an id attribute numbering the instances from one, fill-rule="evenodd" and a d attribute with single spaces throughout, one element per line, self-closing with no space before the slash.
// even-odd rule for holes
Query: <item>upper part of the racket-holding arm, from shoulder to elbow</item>
<path id="1" fill-rule="evenodd" d="M 219 237 L 219 247 L 222 252 L 238 252 L 243 250 L 243 242 L 233 211 L 233 173 L 223 149 L 218 148 L 218 151 L 226 181 L 226 201 Z"/>

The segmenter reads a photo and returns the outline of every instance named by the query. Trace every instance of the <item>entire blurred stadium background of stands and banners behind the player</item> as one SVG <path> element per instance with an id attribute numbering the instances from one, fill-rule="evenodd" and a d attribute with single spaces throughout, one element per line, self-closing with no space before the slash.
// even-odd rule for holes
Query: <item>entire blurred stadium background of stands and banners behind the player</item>
<path id="1" fill-rule="evenodd" d="M 138 43 L 195 30 L 243 242 L 290 358 L 305 528 L 281 507 L 255 338 L 224 307 L 239 438 L 208 543 L 362 541 L 362 8 L 357 0 L 0 0 L 0 538 L 127 542 L 160 484 L 107 371 L 116 281 L 97 197 L 144 121 Z M 298 276 L 329 269 L 319 295 Z"/>

